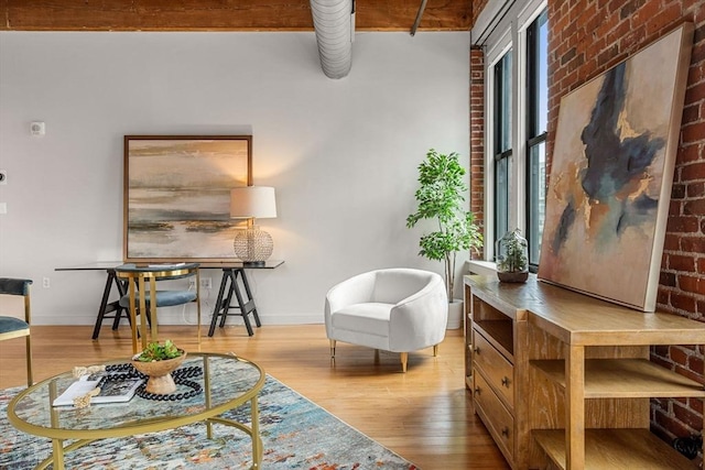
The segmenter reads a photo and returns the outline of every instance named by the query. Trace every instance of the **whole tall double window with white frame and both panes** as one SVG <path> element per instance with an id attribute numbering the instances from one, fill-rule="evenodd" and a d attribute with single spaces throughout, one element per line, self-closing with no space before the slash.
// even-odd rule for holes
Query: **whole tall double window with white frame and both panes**
<path id="1" fill-rule="evenodd" d="M 499 238 L 519 228 L 533 272 L 545 218 L 547 33 L 546 0 L 489 2 L 470 32 L 486 67 L 486 260 L 494 261 Z"/>

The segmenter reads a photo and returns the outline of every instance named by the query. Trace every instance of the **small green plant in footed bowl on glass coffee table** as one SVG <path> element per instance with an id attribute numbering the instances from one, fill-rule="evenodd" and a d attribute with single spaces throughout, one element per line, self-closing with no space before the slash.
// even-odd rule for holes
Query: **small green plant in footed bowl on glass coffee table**
<path id="1" fill-rule="evenodd" d="M 176 391 L 171 372 L 186 359 L 186 351 L 180 349 L 170 339 L 164 345 L 150 342 L 147 348 L 132 358 L 132 365 L 149 376 L 145 391 L 166 395 Z"/>

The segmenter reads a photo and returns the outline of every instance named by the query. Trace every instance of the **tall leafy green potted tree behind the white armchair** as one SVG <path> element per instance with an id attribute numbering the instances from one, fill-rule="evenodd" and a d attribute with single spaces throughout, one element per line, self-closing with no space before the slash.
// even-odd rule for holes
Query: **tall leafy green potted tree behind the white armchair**
<path id="1" fill-rule="evenodd" d="M 419 254 L 444 262 L 445 285 L 451 303 L 463 302 L 453 298 L 457 252 L 477 252 L 482 247 L 482 234 L 475 223 L 475 216 L 464 207 L 464 194 L 467 192 L 464 176 L 465 168 L 460 166 L 456 152 L 445 155 L 431 149 L 419 165 L 420 186 L 415 193 L 419 207 L 406 217 L 408 228 L 414 227 L 421 219 L 436 220 L 438 229 L 421 237 Z"/>

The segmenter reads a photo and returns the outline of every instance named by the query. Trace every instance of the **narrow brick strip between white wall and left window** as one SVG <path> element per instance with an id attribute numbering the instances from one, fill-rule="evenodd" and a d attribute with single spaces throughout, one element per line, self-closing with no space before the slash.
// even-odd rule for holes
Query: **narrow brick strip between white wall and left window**
<path id="1" fill-rule="evenodd" d="M 485 225 L 485 53 L 470 50 L 470 211 Z M 473 253 L 473 258 L 485 259 Z"/>

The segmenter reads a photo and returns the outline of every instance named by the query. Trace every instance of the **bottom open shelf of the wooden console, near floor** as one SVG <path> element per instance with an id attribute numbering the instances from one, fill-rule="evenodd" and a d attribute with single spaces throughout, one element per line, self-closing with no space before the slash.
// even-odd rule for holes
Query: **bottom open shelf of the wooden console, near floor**
<path id="1" fill-rule="evenodd" d="M 565 429 L 533 429 L 554 466 L 565 469 Z M 649 429 L 585 429 L 585 469 L 697 469 Z"/>

